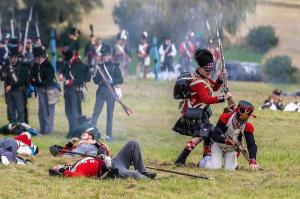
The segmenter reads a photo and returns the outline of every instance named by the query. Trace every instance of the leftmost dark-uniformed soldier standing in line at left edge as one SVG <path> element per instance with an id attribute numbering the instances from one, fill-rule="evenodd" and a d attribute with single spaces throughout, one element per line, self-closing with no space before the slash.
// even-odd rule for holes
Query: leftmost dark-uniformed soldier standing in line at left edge
<path id="1" fill-rule="evenodd" d="M 9 123 L 28 122 L 25 118 L 25 89 L 29 83 L 29 70 L 19 61 L 18 56 L 18 41 L 14 39 L 9 47 L 8 65 L 4 68 L 4 90 Z"/>

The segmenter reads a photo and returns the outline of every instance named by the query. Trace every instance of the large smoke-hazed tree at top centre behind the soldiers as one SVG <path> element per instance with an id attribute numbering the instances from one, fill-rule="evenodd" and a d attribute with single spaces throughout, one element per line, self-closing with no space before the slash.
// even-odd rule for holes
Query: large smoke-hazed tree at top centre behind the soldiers
<path id="1" fill-rule="evenodd" d="M 255 7 L 256 0 L 121 0 L 113 15 L 121 29 L 129 30 L 133 41 L 138 41 L 144 30 L 160 40 L 167 35 L 180 40 L 188 30 L 206 32 L 206 21 L 215 34 L 215 19 L 220 29 L 235 34 Z"/>

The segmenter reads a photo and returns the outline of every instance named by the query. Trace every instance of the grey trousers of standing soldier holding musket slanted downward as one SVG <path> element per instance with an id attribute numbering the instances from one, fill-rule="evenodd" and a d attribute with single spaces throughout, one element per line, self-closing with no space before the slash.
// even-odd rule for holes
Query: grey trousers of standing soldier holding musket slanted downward
<path id="1" fill-rule="evenodd" d="M 97 126 L 97 121 L 102 111 L 104 102 L 107 106 L 107 115 L 106 115 L 106 134 L 112 137 L 112 125 L 113 125 L 113 114 L 115 109 L 115 98 L 108 89 L 107 86 L 101 86 L 96 92 L 96 102 L 92 117 L 92 124 Z"/>

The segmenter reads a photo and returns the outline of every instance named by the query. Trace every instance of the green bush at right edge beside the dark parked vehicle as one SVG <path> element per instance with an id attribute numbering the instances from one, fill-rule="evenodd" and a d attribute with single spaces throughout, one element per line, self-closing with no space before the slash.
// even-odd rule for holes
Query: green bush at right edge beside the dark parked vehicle
<path id="1" fill-rule="evenodd" d="M 267 59 L 263 66 L 267 79 L 270 82 L 291 83 L 297 81 L 299 71 L 292 66 L 291 58 L 287 55 L 275 56 Z"/>

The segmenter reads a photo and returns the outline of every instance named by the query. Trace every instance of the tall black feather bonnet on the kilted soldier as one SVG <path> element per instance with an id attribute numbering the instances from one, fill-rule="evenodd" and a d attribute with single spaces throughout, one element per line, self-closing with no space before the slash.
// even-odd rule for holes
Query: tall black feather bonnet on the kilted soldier
<path id="1" fill-rule="evenodd" d="M 213 69 L 214 57 L 209 50 L 197 49 L 195 51 L 195 60 L 200 68 L 210 71 Z"/>

